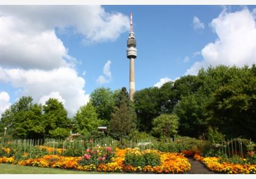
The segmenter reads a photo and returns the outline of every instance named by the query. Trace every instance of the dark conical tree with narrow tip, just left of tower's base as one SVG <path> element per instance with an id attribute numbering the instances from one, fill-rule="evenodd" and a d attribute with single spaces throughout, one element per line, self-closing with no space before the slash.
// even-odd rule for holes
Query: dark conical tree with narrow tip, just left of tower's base
<path id="1" fill-rule="evenodd" d="M 122 139 L 129 135 L 136 127 L 136 113 L 127 103 L 126 88 L 121 91 L 120 105 L 114 108 L 114 112 L 111 115 L 110 131 L 113 137 Z"/>

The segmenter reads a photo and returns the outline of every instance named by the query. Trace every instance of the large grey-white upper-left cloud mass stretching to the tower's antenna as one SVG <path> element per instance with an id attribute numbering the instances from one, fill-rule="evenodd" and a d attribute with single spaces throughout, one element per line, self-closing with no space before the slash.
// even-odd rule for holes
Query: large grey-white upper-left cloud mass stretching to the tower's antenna
<path id="1" fill-rule="evenodd" d="M 99 5 L 4 5 L 0 9 L 0 62 L 3 67 L 74 67 L 76 58 L 55 35 L 78 33 L 84 41 L 113 41 L 129 30 L 129 18 Z"/>

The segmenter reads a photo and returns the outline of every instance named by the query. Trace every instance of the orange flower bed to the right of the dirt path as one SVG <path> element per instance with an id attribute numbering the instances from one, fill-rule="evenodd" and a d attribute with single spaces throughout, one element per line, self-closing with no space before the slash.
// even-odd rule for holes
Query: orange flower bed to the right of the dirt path
<path id="1" fill-rule="evenodd" d="M 220 157 L 202 157 L 194 154 L 194 160 L 201 161 L 205 166 L 213 172 L 222 174 L 255 174 L 256 164 L 233 164 L 221 162 Z M 243 159 L 246 160 L 246 159 Z"/>

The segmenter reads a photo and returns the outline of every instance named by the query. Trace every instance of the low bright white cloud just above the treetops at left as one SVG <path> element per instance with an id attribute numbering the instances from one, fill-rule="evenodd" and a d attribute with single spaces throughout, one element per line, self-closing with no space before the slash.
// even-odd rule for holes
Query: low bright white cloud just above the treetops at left
<path id="1" fill-rule="evenodd" d="M 84 78 L 77 76 L 76 70 L 68 67 L 51 71 L 0 67 L 0 81 L 9 82 L 13 87 L 21 88 L 22 95 L 32 96 L 36 102 L 43 103 L 49 97 L 57 98 L 65 103 L 69 117 L 89 100 L 89 96 L 83 90 Z"/>

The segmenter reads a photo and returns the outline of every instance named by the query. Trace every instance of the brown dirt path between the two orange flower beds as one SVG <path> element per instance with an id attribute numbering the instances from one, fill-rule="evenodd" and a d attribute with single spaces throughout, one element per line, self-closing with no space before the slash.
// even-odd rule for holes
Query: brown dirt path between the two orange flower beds
<path id="1" fill-rule="evenodd" d="M 193 158 L 188 158 L 191 164 L 190 171 L 187 174 L 215 174 L 214 172 L 208 171 L 208 169 L 200 161 L 196 161 Z"/>

